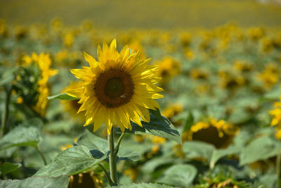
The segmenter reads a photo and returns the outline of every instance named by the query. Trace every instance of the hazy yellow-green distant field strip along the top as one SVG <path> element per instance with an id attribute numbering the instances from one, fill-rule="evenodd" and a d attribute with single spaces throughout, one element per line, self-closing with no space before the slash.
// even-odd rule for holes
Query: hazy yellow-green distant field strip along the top
<path id="1" fill-rule="evenodd" d="M 105 28 L 217 27 L 235 21 L 242 27 L 281 25 L 281 7 L 254 0 L 13 0 L 0 1 L 0 18 L 9 24 L 49 23 L 60 17 L 67 25 L 85 19 Z"/>

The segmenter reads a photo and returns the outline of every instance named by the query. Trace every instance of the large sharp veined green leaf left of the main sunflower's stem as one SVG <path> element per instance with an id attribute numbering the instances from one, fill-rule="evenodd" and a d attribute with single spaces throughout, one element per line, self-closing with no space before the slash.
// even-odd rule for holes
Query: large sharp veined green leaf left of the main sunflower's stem
<path id="1" fill-rule="evenodd" d="M 108 155 L 109 153 L 105 153 L 100 158 L 93 158 L 86 146 L 72 146 L 59 153 L 51 163 L 41 168 L 34 176 L 75 175 L 91 170 L 94 165 L 98 165 Z"/>

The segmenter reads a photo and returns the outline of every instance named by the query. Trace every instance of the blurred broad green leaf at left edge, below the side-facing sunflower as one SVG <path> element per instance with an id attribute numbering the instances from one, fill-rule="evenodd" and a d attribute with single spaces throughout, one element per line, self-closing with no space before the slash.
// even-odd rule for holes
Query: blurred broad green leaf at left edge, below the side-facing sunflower
<path id="1" fill-rule="evenodd" d="M 18 126 L 5 134 L 0 141 L 0 148 L 6 149 L 12 146 L 33 146 L 41 141 L 41 130 L 39 127 Z"/>

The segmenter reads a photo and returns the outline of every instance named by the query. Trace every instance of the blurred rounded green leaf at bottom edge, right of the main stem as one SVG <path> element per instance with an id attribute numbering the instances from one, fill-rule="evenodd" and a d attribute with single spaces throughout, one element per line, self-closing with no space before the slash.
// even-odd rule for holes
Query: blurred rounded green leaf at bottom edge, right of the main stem
<path id="1" fill-rule="evenodd" d="M 157 182 L 170 184 L 176 187 L 188 187 L 192 184 L 197 170 L 192 165 L 176 164 L 168 168 L 164 177 L 161 177 Z"/>

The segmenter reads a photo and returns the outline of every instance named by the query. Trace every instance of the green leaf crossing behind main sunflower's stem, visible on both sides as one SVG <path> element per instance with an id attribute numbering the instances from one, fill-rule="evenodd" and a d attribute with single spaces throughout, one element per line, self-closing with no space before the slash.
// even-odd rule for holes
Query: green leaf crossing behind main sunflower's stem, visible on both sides
<path id="1" fill-rule="evenodd" d="M 78 139 L 77 144 L 79 146 L 86 146 L 93 157 L 97 158 L 103 156 L 104 153 L 109 151 L 107 146 L 107 140 L 97 137 L 95 134 L 89 132 L 89 130 L 85 130 L 84 134 Z M 140 156 L 138 153 L 131 149 L 127 149 L 122 147 L 122 143 L 119 147 L 119 151 L 117 154 L 117 160 L 124 160 L 124 161 L 138 161 Z"/>

